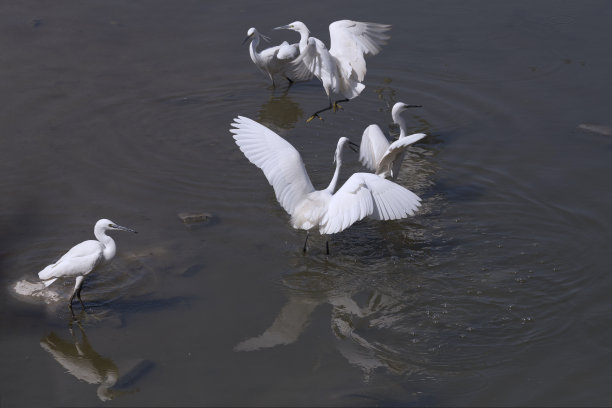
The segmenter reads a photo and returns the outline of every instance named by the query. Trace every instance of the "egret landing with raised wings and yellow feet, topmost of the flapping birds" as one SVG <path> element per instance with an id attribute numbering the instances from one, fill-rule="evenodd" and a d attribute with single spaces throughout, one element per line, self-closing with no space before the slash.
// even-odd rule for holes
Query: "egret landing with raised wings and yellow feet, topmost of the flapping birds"
<path id="1" fill-rule="evenodd" d="M 294 64 L 298 72 L 307 69 L 319 78 L 329 99 L 329 106 L 313 113 L 307 119 L 309 122 L 315 117 L 321 119 L 321 112 L 332 108 L 336 111 L 341 108 L 338 102 L 347 102 L 363 91 L 365 85 L 361 82 L 366 74 L 364 57 L 380 52 L 381 46 L 389 39 L 385 32 L 390 30 L 391 26 L 352 20 L 334 21 L 329 25 L 329 50 L 321 40 L 309 37 L 310 31 L 301 21 L 275 28 L 282 29 L 300 34 L 300 56 Z M 343 99 L 332 103 L 332 94 L 340 95 Z"/>

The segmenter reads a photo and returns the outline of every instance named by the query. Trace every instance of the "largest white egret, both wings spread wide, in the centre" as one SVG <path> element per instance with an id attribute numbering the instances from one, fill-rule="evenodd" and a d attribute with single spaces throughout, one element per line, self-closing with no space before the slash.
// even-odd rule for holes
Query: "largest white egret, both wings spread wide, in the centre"
<path id="1" fill-rule="evenodd" d="M 307 231 L 304 252 L 308 231 L 313 228 L 318 228 L 321 234 L 335 234 L 365 217 L 395 220 L 413 215 L 420 206 L 421 199 L 416 194 L 372 173 L 354 173 L 334 193 L 342 166 L 342 149 L 355 145 L 346 137 L 338 140 L 336 170 L 329 186 L 315 190 L 300 154 L 289 142 L 243 116 L 236 117 L 232 126 L 230 132 L 236 144 L 264 172 L 276 199 L 291 216 L 293 228 Z"/>

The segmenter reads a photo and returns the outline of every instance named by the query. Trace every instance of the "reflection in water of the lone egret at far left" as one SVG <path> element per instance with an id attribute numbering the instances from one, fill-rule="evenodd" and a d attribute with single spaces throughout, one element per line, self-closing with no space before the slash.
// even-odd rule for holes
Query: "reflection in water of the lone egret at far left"
<path id="1" fill-rule="evenodd" d="M 120 373 L 115 362 L 108 357 L 101 356 L 94 350 L 87 339 L 85 330 L 78 321 L 77 326 L 80 332 L 80 339 L 75 334 L 72 326 L 71 321 L 68 326 L 70 339 L 63 339 L 51 332 L 40 341 L 40 346 L 48 351 L 55 361 L 80 381 L 85 381 L 89 384 L 99 384 L 96 393 L 101 401 L 108 401 L 119 395 L 138 391 L 137 389 L 123 389 L 118 384 Z M 142 363 L 140 366 L 142 371 Z"/>

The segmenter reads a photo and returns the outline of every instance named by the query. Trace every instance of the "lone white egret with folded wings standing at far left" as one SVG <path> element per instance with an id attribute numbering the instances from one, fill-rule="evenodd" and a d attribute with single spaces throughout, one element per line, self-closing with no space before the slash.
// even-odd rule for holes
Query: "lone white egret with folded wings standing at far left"
<path id="1" fill-rule="evenodd" d="M 106 231 L 119 230 L 136 233 L 136 231 L 115 224 L 111 220 L 101 219 L 96 222 L 94 227 L 94 235 L 98 239 L 83 241 L 80 244 L 73 246 L 64 254 L 57 262 L 48 265 L 45 269 L 38 272 L 38 277 L 43 281 L 45 287 L 51 285 L 60 278 L 76 278 L 76 284 L 68 307 L 72 311 L 72 301 L 76 295 L 81 302 L 81 306 L 85 309 L 85 304 L 81 299 L 81 287 L 85 276 L 90 272 L 109 262 L 114 258 L 117 252 L 115 241 L 106 235 Z"/>

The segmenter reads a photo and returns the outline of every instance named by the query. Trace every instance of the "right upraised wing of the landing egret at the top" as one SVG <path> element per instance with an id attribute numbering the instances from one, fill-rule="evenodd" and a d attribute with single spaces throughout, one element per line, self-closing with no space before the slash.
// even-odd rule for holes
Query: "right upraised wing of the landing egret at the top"
<path id="1" fill-rule="evenodd" d="M 366 74 L 364 56 L 376 55 L 389 39 L 390 25 L 352 20 L 334 21 L 329 25 L 329 52 L 343 65 L 350 65 L 361 82 Z"/>

